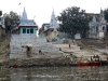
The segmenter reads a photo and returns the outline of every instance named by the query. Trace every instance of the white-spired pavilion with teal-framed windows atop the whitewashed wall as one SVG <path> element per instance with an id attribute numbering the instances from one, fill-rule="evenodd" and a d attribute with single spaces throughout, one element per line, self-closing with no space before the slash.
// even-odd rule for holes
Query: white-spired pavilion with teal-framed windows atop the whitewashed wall
<path id="1" fill-rule="evenodd" d="M 21 17 L 21 23 L 19 23 L 18 28 L 19 28 L 19 33 L 22 35 L 25 35 L 25 33 L 37 35 L 38 25 L 35 23 L 33 19 L 27 18 L 27 13 L 26 13 L 25 8 Z"/>

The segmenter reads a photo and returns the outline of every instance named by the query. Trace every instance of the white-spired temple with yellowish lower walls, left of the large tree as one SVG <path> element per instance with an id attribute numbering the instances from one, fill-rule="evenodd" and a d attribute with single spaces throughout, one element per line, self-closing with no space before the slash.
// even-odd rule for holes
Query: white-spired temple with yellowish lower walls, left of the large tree
<path id="1" fill-rule="evenodd" d="M 39 30 L 40 37 L 45 37 L 50 41 L 58 41 L 62 42 L 60 39 L 66 38 L 67 35 L 65 32 L 58 31 L 59 24 L 57 23 L 54 10 L 51 15 L 51 21 L 49 24 L 43 24 Z"/>

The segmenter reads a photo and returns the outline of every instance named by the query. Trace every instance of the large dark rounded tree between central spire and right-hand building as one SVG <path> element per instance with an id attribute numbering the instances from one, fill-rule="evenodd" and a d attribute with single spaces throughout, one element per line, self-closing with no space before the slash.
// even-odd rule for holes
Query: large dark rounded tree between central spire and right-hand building
<path id="1" fill-rule="evenodd" d="M 90 16 L 85 13 L 85 10 L 80 10 L 80 8 L 67 8 L 57 18 L 60 23 L 59 31 L 62 32 L 85 35 L 89 30 Z"/>

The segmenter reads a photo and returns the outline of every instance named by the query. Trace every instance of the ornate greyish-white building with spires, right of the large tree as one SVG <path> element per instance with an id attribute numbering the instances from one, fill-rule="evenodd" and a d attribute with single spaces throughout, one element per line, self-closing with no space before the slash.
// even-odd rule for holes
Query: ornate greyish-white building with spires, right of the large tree
<path id="1" fill-rule="evenodd" d="M 107 21 L 105 21 L 104 11 L 100 10 L 99 21 L 94 15 L 92 22 L 89 23 L 89 38 L 102 39 L 107 30 Z"/>

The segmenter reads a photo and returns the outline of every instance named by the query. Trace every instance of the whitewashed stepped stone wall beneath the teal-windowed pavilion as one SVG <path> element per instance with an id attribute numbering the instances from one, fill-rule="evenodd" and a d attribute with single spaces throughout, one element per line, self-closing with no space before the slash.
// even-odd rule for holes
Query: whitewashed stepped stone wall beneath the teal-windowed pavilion
<path id="1" fill-rule="evenodd" d="M 32 46 L 32 53 L 38 54 L 39 50 L 42 53 L 62 53 L 58 48 L 55 48 L 51 42 L 46 42 L 45 38 L 37 38 L 36 35 L 12 35 L 10 42 L 10 58 L 25 58 L 26 45 Z"/>

